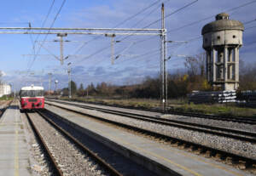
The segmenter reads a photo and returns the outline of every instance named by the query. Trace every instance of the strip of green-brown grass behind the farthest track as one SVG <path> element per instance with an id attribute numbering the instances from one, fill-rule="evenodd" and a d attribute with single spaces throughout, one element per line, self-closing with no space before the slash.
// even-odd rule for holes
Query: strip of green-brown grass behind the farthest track
<path id="1" fill-rule="evenodd" d="M 62 97 L 61 99 L 68 99 Z M 76 101 L 84 102 L 100 102 L 105 105 L 123 105 L 127 107 L 154 108 L 160 106 L 160 101 L 157 99 L 85 99 L 73 98 Z M 195 112 L 203 114 L 212 114 L 220 116 L 253 116 L 256 118 L 256 109 L 238 107 L 233 105 L 195 105 L 188 104 L 187 99 L 170 99 L 168 105 L 175 111 Z"/>

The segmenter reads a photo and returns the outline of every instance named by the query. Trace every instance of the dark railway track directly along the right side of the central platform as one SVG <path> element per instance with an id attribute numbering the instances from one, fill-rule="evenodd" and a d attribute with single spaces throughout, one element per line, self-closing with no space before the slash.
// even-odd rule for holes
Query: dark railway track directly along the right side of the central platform
<path id="1" fill-rule="evenodd" d="M 137 127 L 134 127 L 134 126 L 131 126 L 131 125 L 128 125 L 128 124 L 125 124 L 125 123 L 122 123 L 122 122 L 114 122 L 112 120 L 108 120 L 106 118 L 102 118 L 101 116 L 94 116 L 94 115 L 90 115 L 90 114 L 87 114 L 87 113 L 84 113 L 84 112 L 81 112 L 81 111 L 75 111 L 75 110 L 71 110 L 71 109 L 68 109 L 66 107 L 63 107 L 63 106 L 59 106 L 61 109 L 63 110 L 66 110 L 66 111 L 72 111 L 72 112 L 75 112 L 75 113 L 78 113 L 82 116 L 87 116 L 87 117 L 90 117 L 90 118 L 93 118 L 93 119 L 97 119 L 97 120 L 100 120 L 102 122 L 108 122 L 110 124 L 114 124 L 114 125 L 117 125 L 119 127 L 122 127 L 122 128 L 126 128 L 128 130 L 133 130 L 133 131 L 137 131 L 137 132 L 140 132 L 140 133 L 146 133 L 150 136 L 153 136 L 155 138 L 158 138 L 158 139 L 166 139 L 166 140 L 170 140 L 170 141 L 177 141 L 181 144 L 185 144 L 185 145 L 190 145 L 190 146 L 193 146 L 197 149 L 203 149 L 203 150 L 209 150 L 211 151 L 213 154 L 220 154 L 222 156 L 225 156 L 225 157 L 228 157 L 230 156 L 231 158 L 234 158 L 236 161 L 244 161 L 246 162 L 248 165 L 253 165 L 253 164 L 256 164 L 256 159 L 253 159 L 253 158 L 249 158 L 247 156 L 240 156 L 240 155 L 236 155 L 234 153 L 230 153 L 228 151 L 225 151 L 225 150 L 218 150 L 218 149 L 214 149 L 212 147 L 209 147 L 209 146 L 205 146 L 205 145 L 200 145 L 200 144 L 196 144 L 194 142 L 190 142 L 190 141 L 187 141 L 187 140 L 183 140 L 183 139 L 178 139 L 178 138 L 174 138 L 174 137 L 171 137 L 171 136 L 168 136 L 166 134 L 162 134 L 162 133 L 157 133 L 157 132 L 154 132 L 154 131 L 150 131 L 148 129 L 143 129 L 143 128 L 137 128 Z M 49 111 L 49 110 L 47 110 Z M 55 112 L 53 111 L 49 111 L 50 113 L 52 114 L 55 114 Z M 56 114 L 55 114 L 56 115 Z M 58 116 L 58 115 L 56 115 Z"/>

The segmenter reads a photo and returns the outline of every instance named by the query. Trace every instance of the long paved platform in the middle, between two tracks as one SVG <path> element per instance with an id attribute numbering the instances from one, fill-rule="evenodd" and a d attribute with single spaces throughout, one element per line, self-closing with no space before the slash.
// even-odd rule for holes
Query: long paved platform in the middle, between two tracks
<path id="1" fill-rule="evenodd" d="M 60 104 L 59 104 L 60 105 Z M 85 111 L 79 107 L 70 105 L 61 105 L 63 107 L 72 108 L 76 111 Z M 68 121 L 78 124 L 82 128 L 90 130 L 90 132 L 101 135 L 103 138 L 111 140 L 113 143 L 121 145 L 127 150 L 134 150 L 141 156 L 145 156 L 158 162 L 176 173 L 181 175 L 194 176 L 244 176 L 252 175 L 230 167 L 221 162 L 207 159 L 203 156 L 197 156 L 185 150 L 178 150 L 171 146 L 162 145 L 150 139 L 145 139 L 123 130 L 112 128 L 106 124 L 102 124 L 91 120 L 90 118 L 74 114 L 73 112 L 63 111 L 54 106 L 45 106 L 50 111 L 54 111 L 59 116 L 66 118 Z M 88 111 L 86 111 L 88 113 Z M 93 114 L 93 111 L 91 111 Z"/>

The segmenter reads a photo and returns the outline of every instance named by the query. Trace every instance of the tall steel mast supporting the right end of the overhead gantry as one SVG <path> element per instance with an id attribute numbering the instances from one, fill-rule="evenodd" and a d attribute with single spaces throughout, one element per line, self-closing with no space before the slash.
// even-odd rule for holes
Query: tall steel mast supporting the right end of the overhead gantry
<path id="1" fill-rule="evenodd" d="M 161 60 L 160 60 L 160 71 L 161 71 L 161 96 L 160 96 L 160 105 L 161 111 L 166 111 L 166 86 L 165 86 L 165 78 L 166 78 L 166 29 L 165 29 L 165 6 L 162 3 L 161 8 L 161 22 L 162 22 L 162 31 L 160 35 L 161 40 Z"/>

